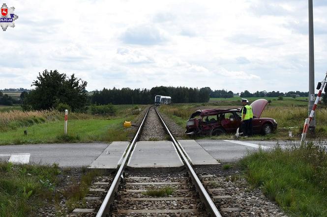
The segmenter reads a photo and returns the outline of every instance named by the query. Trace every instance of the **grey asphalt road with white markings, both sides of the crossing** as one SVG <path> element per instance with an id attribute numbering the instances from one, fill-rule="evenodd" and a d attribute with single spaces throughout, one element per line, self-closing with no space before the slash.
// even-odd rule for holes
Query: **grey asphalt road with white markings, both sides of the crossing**
<path id="1" fill-rule="evenodd" d="M 209 139 L 200 139 L 196 142 L 220 162 L 237 161 L 248 152 L 257 151 L 259 146 L 262 149 L 269 149 L 277 143 L 277 141 Z M 281 147 L 298 144 L 299 142 L 279 141 Z M 82 167 L 89 166 L 108 145 L 108 143 L 3 145 L 0 146 L 0 160 L 14 163 L 58 163 L 62 167 Z"/>

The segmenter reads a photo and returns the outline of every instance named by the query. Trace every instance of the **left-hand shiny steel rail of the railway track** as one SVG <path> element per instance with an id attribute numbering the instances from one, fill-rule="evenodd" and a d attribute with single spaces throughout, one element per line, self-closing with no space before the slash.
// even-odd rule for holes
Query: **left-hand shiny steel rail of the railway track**
<path id="1" fill-rule="evenodd" d="M 153 107 L 153 106 L 151 106 Z M 149 113 L 149 110 L 150 108 L 147 110 L 147 113 L 145 114 L 141 124 L 140 124 L 140 127 L 138 129 L 138 131 L 136 132 L 131 144 L 129 145 L 129 148 L 127 150 L 127 152 L 125 153 L 125 157 L 123 158 L 120 166 L 119 166 L 119 169 L 118 169 L 118 172 L 114 178 L 114 181 L 112 182 L 111 186 L 110 186 L 110 189 L 108 190 L 107 194 L 106 194 L 106 197 L 104 198 L 102 204 L 101 204 L 101 207 L 99 209 L 99 211 L 97 212 L 96 214 L 96 217 L 105 217 L 106 216 L 106 213 L 109 212 L 109 208 L 110 208 L 110 204 L 111 202 L 115 199 L 115 192 L 116 190 L 118 189 L 118 186 L 120 184 L 120 180 L 121 180 L 121 177 L 122 177 L 122 173 L 123 173 L 123 170 L 124 170 L 124 167 L 125 167 L 125 163 L 127 162 L 127 160 L 129 159 L 130 155 L 131 155 L 131 150 L 134 148 L 134 145 L 136 143 L 136 140 L 138 139 L 139 135 L 140 135 L 140 132 L 143 128 L 143 125 L 145 123 L 145 120 L 148 116 L 148 113 Z"/>

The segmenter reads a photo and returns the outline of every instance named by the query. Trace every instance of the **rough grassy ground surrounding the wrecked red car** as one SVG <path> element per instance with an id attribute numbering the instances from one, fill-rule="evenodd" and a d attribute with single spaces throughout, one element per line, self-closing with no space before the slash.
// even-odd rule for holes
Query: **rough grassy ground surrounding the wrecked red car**
<path id="1" fill-rule="evenodd" d="M 261 117 L 274 118 L 278 123 L 277 131 L 274 134 L 262 136 L 255 135 L 252 137 L 241 139 L 299 139 L 302 133 L 304 120 L 307 117 L 306 106 L 278 106 L 274 105 L 281 101 L 272 101 L 263 111 Z M 235 105 L 231 105 L 235 104 Z M 222 109 L 222 108 L 240 108 L 240 103 L 233 101 L 219 103 L 203 103 L 203 104 L 173 104 L 162 105 L 160 111 L 168 114 L 178 125 L 185 128 L 185 123 L 190 115 L 198 109 Z M 319 105 L 316 109 L 316 135 L 315 139 L 327 138 L 327 108 Z M 294 137 L 289 137 L 289 131 L 292 131 Z M 218 136 L 215 138 L 230 139 L 232 135 Z"/>

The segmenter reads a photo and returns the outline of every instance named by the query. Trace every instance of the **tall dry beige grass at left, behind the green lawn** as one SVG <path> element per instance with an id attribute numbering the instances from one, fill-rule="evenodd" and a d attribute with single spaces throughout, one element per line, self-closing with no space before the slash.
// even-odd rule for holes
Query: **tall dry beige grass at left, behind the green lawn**
<path id="1" fill-rule="evenodd" d="M 86 119 L 89 118 L 89 116 L 91 115 L 84 113 L 70 113 L 68 115 L 69 119 Z M 63 118 L 64 112 L 59 112 L 55 109 L 37 111 L 4 111 L 0 113 L 0 131 L 7 131 L 47 121 L 63 120 Z"/>

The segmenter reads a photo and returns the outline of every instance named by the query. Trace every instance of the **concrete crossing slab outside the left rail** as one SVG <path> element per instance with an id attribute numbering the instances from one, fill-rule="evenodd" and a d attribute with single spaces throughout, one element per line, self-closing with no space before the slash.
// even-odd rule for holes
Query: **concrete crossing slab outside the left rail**
<path id="1" fill-rule="evenodd" d="M 97 169 L 117 169 L 121 163 L 123 154 L 125 153 L 129 142 L 118 141 L 112 142 L 101 154 L 95 159 L 89 168 Z"/>

